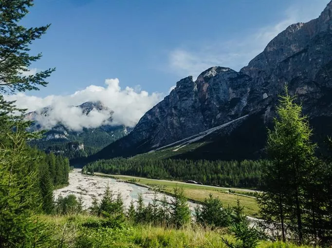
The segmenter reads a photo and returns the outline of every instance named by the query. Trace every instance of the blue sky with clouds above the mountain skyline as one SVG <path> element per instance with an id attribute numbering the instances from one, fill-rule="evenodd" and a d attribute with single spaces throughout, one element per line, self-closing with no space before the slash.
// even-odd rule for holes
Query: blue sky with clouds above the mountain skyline
<path id="1" fill-rule="evenodd" d="M 31 53 L 43 54 L 31 73 L 56 71 L 40 91 L 7 98 L 29 111 L 102 99 L 128 115 L 119 123 L 133 126 L 180 79 L 211 66 L 239 70 L 287 26 L 318 17 L 328 2 L 35 0 L 22 25 L 51 27 L 31 45 Z"/>

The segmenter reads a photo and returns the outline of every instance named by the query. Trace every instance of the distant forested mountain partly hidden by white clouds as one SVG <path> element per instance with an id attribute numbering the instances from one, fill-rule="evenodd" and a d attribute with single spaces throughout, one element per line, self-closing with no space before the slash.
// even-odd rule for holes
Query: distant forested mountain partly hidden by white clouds
<path id="1" fill-rule="evenodd" d="M 109 122 L 112 121 L 113 111 L 105 107 L 100 101 L 88 101 L 73 107 L 79 108 L 81 114 L 86 116 L 89 116 L 92 110 L 106 111 L 109 113 Z M 61 122 L 57 122 L 53 127 L 47 129 L 41 123 L 52 118 L 51 107 L 27 113 L 24 117 L 34 121 L 30 131 L 46 131 L 42 139 L 32 141 L 31 145 L 48 152 L 64 153 L 69 158 L 91 155 L 130 132 L 130 128 L 126 126 L 110 124 L 75 131 Z"/>

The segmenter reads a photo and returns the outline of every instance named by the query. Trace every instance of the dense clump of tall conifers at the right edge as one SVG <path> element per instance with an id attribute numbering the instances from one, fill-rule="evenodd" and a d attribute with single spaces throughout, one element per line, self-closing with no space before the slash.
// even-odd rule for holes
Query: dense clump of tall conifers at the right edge
<path id="1" fill-rule="evenodd" d="M 315 157 L 316 145 L 310 140 L 312 130 L 302 107 L 288 95 L 287 87 L 285 93 L 277 106 L 274 129 L 268 132 L 272 163 L 263 166 L 263 193 L 258 198 L 261 215 L 267 228 L 276 229 L 277 238 L 283 241 L 296 234 L 299 243 L 305 239 L 329 243 L 331 170 Z"/>

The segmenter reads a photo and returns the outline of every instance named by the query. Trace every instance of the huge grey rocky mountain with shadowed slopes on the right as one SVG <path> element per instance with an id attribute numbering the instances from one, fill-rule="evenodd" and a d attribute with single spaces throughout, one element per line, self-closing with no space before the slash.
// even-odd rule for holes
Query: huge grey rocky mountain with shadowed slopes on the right
<path id="1" fill-rule="evenodd" d="M 322 143 L 332 131 L 331 16 L 332 2 L 318 18 L 292 24 L 279 33 L 239 72 L 215 66 L 196 81 L 191 76 L 180 80 L 129 135 L 90 160 L 148 152 L 233 120 L 231 126 L 210 133 L 202 146 L 182 156 L 259 157 L 264 154 L 266 127 L 271 126 L 285 83 L 310 116 L 314 141 Z"/>

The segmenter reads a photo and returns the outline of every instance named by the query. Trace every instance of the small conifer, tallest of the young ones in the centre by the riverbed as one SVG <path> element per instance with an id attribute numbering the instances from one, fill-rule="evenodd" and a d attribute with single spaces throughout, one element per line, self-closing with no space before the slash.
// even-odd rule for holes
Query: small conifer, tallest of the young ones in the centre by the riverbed
<path id="1" fill-rule="evenodd" d="M 190 210 L 183 188 L 175 187 L 173 189 L 170 209 L 170 221 L 175 228 L 181 228 L 190 221 Z"/>

